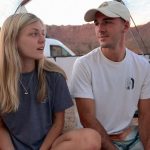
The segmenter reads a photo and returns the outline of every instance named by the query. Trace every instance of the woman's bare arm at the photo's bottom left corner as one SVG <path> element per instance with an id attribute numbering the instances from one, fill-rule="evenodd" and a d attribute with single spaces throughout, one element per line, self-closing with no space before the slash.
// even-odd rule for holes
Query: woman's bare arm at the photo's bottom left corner
<path id="1" fill-rule="evenodd" d="M 9 132 L 6 126 L 3 123 L 3 120 L 0 118 L 0 150 L 14 150 Z"/>

